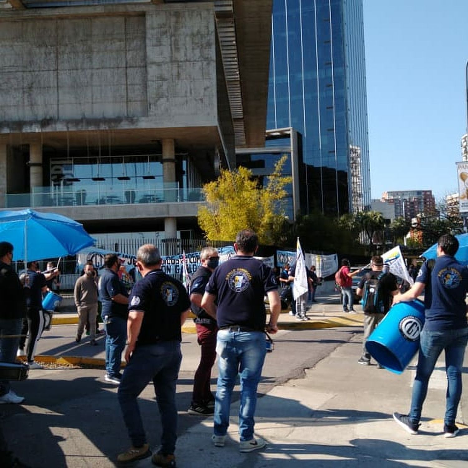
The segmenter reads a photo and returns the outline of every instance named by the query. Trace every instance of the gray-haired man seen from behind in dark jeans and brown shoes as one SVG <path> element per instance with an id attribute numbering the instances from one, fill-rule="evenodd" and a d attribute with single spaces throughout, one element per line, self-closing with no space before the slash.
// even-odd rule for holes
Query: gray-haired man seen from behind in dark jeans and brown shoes
<path id="1" fill-rule="evenodd" d="M 125 367 L 118 400 L 132 447 L 117 457 L 119 463 L 149 457 L 137 398 L 150 380 L 161 415 L 161 449 L 154 465 L 176 466 L 176 383 L 182 360 L 181 327 L 190 312 L 190 300 L 180 281 L 161 270 L 161 255 L 152 244 L 138 249 L 136 268 L 143 277 L 133 286 L 128 306 Z"/>

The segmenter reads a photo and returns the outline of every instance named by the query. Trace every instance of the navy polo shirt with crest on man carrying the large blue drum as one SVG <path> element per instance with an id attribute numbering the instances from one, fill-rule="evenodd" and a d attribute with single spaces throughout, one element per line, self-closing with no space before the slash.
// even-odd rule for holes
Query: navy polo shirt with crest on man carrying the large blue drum
<path id="1" fill-rule="evenodd" d="M 465 297 L 468 290 L 468 270 L 450 255 L 437 257 L 431 270 L 423 263 L 416 278 L 424 283 L 424 329 L 441 331 L 467 326 Z"/>

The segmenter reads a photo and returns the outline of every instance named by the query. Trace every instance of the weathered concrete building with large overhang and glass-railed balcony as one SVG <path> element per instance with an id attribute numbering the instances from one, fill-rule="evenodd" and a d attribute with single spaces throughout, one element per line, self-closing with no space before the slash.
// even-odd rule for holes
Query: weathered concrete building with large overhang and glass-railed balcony
<path id="1" fill-rule="evenodd" d="M 264 146 L 271 8 L 0 3 L 0 209 L 91 233 L 196 229 L 203 183 Z"/>

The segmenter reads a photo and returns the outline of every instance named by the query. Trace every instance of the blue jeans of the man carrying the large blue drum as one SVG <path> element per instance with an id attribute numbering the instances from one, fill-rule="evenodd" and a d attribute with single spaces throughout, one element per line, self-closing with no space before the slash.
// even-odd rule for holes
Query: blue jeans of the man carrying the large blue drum
<path id="1" fill-rule="evenodd" d="M 419 423 L 424 399 L 427 394 L 429 378 L 437 359 L 445 350 L 445 368 L 447 374 L 446 412 L 444 423 L 455 424 L 457 408 L 461 398 L 461 370 L 468 341 L 468 328 L 458 330 L 427 331 L 421 333 L 416 378 L 411 398 L 409 417 L 413 423 Z"/>

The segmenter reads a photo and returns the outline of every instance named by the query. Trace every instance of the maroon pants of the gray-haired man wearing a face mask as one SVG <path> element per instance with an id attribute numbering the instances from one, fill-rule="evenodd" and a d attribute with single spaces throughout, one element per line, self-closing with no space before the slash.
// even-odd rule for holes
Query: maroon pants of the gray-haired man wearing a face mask
<path id="1" fill-rule="evenodd" d="M 198 344 L 201 346 L 201 358 L 197 372 L 193 379 L 192 403 L 206 404 L 213 401 L 211 393 L 211 369 L 216 359 L 216 334 L 218 327 L 215 324 L 196 324 Z"/>

